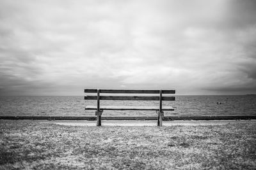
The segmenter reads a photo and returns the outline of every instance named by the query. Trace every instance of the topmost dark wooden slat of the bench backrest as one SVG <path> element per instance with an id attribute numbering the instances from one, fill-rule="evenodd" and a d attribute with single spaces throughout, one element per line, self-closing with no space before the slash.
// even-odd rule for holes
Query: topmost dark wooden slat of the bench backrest
<path id="1" fill-rule="evenodd" d="M 97 93 L 97 89 L 84 89 L 84 93 Z M 100 93 L 159 94 L 159 90 L 100 89 Z M 175 90 L 162 90 L 163 94 L 175 94 Z"/>

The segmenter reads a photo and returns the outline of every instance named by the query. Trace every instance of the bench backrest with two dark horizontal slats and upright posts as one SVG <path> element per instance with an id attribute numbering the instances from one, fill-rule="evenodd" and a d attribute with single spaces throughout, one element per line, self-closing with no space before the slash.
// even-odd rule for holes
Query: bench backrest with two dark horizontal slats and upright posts
<path id="1" fill-rule="evenodd" d="M 159 111 L 162 110 L 162 101 L 175 101 L 173 96 L 163 94 L 175 94 L 175 90 L 113 90 L 113 89 L 84 89 L 84 93 L 97 93 L 93 96 L 84 96 L 86 100 L 97 100 L 99 111 L 100 100 L 129 100 L 129 101 L 159 101 Z M 100 96 L 106 94 L 159 94 L 159 96 Z"/>

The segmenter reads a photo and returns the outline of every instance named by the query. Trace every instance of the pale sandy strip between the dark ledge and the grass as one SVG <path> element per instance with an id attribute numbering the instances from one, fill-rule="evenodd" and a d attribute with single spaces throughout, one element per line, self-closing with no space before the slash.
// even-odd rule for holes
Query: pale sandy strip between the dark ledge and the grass
<path id="1" fill-rule="evenodd" d="M 40 121 L 40 120 L 39 120 Z M 87 120 L 55 120 L 55 121 L 40 121 L 43 124 L 58 124 L 71 126 L 88 126 L 96 125 L 95 121 Z M 237 122 L 256 122 L 256 120 L 175 120 L 163 121 L 163 126 L 173 125 L 226 125 L 237 124 Z M 156 120 L 102 120 L 102 126 L 156 126 Z"/>

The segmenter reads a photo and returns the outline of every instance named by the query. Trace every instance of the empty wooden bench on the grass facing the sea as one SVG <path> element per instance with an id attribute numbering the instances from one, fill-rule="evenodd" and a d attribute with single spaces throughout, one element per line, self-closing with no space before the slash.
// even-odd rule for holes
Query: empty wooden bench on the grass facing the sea
<path id="1" fill-rule="evenodd" d="M 175 94 L 175 90 L 107 90 L 84 89 L 84 93 L 95 93 L 84 96 L 85 100 L 97 100 L 97 106 L 86 106 L 85 110 L 96 110 L 97 126 L 101 125 L 103 110 L 155 110 L 157 112 L 157 126 L 162 126 L 163 111 L 174 110 L 172 106 L 162 106 L 162 101 L 175 101 L 173 96 L 163 94 Z M 118 94 L 114 96 L 100 96 L 100 94 Z M 155 94 L 155 96 L 120 96 L 120 94 Z M 158 96 L 156 96 L 158 94 Z M 159 101 L 159 106 L 100 106 L 100 100 L 129 100 L 129 101 Z"/>

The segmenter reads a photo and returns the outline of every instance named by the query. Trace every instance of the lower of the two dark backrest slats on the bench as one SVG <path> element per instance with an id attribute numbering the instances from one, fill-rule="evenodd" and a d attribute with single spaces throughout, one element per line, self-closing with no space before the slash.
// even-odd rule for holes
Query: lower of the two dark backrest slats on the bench
<path id="1" fill-rule="evenodd" d="M 85 100 L 97 100 L 97 96 L 84 96 Z M 159 96 L 100 96 L 100 100 L 159 101 Z M 175 101 L 173 96 L 163 96 L 163 101 Z"/>

